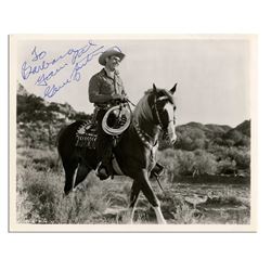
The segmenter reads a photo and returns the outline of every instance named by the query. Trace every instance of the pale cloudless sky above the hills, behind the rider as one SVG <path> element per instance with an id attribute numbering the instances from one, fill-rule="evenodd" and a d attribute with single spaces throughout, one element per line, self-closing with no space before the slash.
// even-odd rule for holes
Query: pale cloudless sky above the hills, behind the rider
<path id="1" fill-rule="evenodd" d="M 254 63 L 247 37 L 22 39 L 17 42 L 17 81 L 49 102 L 66 102 L 90 114 L 89 79 L 102 68 L 99 55 L 112 47 L 126 54 L 118 69 L 133 103 L 153 83 L 170 89 L 177 82 L 179 125 L 235 127 L 251 117 Z"/>

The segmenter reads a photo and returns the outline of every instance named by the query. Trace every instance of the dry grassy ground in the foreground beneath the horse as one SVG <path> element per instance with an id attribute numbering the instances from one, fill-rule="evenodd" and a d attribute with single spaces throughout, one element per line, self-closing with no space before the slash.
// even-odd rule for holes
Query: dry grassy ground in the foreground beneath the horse
<path id="1" fill-rule="evenodd" d="M 125 223 L 131 181 L 100 181 L 91 172 L 75 193 L 63 196 L 64 172 L 54 151 L 17 150 L 17 220 L 22 223 Z M 168 223 L 248 223 L 249 186 L 227 184 L 172 184 L 164 180 L 158 196 Z M 185 197 L 206 197 L 191 205 Z M 144 196 L 140 196 L 134 223 L 156 223 Z"/>

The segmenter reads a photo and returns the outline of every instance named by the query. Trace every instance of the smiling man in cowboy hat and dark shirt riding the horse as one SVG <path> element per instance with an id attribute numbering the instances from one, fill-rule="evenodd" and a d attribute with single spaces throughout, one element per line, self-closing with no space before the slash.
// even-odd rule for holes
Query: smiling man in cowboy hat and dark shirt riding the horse
<path id="1" fill-rule="evenodd" d="M 100 179 L 113 177 L 112 152 L 113 137 L 105 133 L 102 120 L 106 112 L 126 98 L 122 80 L 116 67 L 124 60 L 125 54 L 119 50 L 107 50 L 99 57 L 99 63 L 104 66 L 101 72 L 91 77 L 89 81 L 89 101 L 94 103 L 94 115 L 98 121 L 98 156 L 101 160 L 98 168 Z"/>

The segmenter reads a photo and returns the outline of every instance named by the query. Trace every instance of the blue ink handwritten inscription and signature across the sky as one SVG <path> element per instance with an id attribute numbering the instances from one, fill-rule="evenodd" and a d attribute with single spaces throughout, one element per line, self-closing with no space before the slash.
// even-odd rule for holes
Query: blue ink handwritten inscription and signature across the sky
<path id="1" fill-rule="evenodd" d="M 117 47 L 114 47 L 117 48 Z M 119 51 L 120 49 L 117 48 Z M 21 67 L 21 75 L 24 80 L 35 78 L 36 86 L 46 87 L 44 98 L 52 98 L 57 91 L 63 89 L 72 81 L 79 81 L 81 79 L 81 72 L 94 56 L 103 53 L 104 46 L 99 46 L 92 41 L 81 48 L 70 48 L 64 54 L 60 54 L 48 61 L 48 52 L 39 51 L 35 47 L 31 51 L 30 62 L 24 62 Z M 52 83 L 52 78 L 57 79 L 57 75 L 63 70 L 70 69 L 72 73 L 62 83 Z M 50 83 L 50 85 L 49 85 Z"/>

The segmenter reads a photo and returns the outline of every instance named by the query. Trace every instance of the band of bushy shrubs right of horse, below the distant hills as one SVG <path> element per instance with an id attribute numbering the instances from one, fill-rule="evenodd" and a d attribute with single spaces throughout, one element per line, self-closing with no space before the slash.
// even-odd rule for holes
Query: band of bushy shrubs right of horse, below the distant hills
<path id="1" fill-rule="evenodd" d="M 234 175 L 250 169 L 250 152 L 246 146 L 210 145 L 208 150 L 193 152 L 167 149 L 158 153 L 158 160 L 173 176 Z"/>

